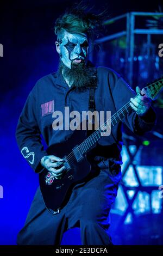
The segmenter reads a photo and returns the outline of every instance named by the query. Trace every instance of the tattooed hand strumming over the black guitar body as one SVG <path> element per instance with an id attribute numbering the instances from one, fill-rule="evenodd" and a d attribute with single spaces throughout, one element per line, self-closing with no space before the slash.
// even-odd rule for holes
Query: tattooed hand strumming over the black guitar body
<path id="1" fill-rule="evenodd" d="M 43 156 L 41 159 L 41 165 L 45 167 L 48 172 L 54 174 L 55 179 L 61 179 L 65 171 L 65 166 L 58 168 L 64 160 L 57 156 Z"/>

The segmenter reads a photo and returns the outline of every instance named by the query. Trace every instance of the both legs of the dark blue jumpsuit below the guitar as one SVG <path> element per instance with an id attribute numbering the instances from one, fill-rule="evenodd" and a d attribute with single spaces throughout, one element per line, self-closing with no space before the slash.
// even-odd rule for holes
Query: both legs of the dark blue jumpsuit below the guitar
<path id="1" fill-rule="evenodd" d="M 38 188 L 26 223 L 17 237 L 18 245 L 60 245 L 66 229 L 80 227 L 82 245 L 110 245 L 109 212 L 117 195 L 120 177 L 101 170 L 98 176 L 73 188 L 68 204 L 52 215 Z"/>

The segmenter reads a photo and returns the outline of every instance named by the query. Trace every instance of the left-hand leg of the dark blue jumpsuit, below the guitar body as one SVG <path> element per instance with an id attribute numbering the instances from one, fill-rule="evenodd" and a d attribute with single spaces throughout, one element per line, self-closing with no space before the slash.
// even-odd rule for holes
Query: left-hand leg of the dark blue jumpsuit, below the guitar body
<path id="1" fill-rule="evenodd" d="M 17 245 L 60 245 L 65 225 L 65 214 L 52 215 L 45 208 L 39 187 Z"/>

